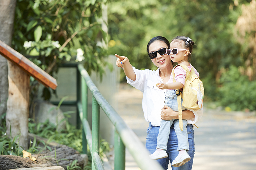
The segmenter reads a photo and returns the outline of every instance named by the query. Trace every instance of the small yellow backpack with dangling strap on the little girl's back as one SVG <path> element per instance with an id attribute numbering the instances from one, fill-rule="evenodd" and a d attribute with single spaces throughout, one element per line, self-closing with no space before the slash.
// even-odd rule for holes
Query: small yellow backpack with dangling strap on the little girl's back
<path id="1" fill-rule="evenodd" d="M 197 77 L 194 68 L 189 69 L 186 65 L 176 65 L 172 69 L 173 82 L 176 82 L 174 77 L 174 68 L 181 66 L 186 71 L 185 84 L 182 93 L 179 89 L 176 89 L 176 95 L 178 96 L 178 108 L 179 108 L 179 125 L 180 130 L 183 131 L 182 123 L 182 109 L 181 98 L 183 99 L 182 106 L 187 109 L 200 109 L 202 108 L 204 98 L 204 86 L 203 82 Z"/>

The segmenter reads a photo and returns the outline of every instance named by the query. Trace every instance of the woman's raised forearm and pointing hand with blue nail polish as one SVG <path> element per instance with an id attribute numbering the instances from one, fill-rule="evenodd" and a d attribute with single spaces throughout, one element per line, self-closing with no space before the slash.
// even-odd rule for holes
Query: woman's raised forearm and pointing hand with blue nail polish
<path id="1" fill-rule="evenodd" d="M 132 69 L 132 65 L 129 61 L 129 59 L 125 56 L 120 56 L 115 54 L 117 57 L 116 60 L 116 66 L 117 67 L 121 67 L 124 69 L 124 74 L 131 79 L 132 81 L 136 80 L 136 74 L 134 73 L 133 69 Z"/>

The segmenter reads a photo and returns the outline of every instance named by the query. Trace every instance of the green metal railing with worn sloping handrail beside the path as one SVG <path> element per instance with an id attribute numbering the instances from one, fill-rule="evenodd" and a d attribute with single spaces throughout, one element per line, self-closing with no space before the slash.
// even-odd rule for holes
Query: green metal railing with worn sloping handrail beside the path
<path id="1" fill-rule="evenodd" d="M 163 168 L 152 159 L 149 159 L 148 151 L 140 139 L 128 127 L 116 110 L 101 95 L 92 82 L 83 65 L 68 64 L 64 67 L 77 68 L 77 101 L 63 102 L 64 105 L 77 105 L 78 120 L 83 126 L 83 153 L 87 152 L 87 144 L 92 155 L 92 170 L 104 170 L 99 156 L 100 147 L 100 107 L 115 126 L 114 140 L 114 170 L 125 169 L 125 148 L 129 150 L 138 166 L 142 170 L 162 170 Z M 92 93 L 92 130 L 88 123 L 88 90 Z M 80 124 L 78 124 L 80 127 Z"/>

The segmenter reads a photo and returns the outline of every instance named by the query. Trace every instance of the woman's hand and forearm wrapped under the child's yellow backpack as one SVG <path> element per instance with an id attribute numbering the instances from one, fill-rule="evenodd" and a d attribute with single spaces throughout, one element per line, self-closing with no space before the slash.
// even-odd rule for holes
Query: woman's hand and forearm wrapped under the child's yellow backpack
<path id="1" fill-rule="evenodd" d="M 182 119 L 192 119 L 195 115 L 190 110 L 183 110 L 182 111 Z M 179 118 L 179 112 L 173 111 L 170 107 L 164 106 L 161 110 L 161 119 L 163 120 L 172 120 L 172 119 L 178 119 Z"/>

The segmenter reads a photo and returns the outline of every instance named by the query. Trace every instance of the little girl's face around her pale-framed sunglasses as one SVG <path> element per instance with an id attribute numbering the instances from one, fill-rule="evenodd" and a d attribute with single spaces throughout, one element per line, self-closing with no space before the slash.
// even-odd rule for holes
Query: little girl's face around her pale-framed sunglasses
<path id="1" fill-rule="evenodd" d="M 184 49 L 184 47 L 182 46 L 181 43 L 183 43 L 183 42 L 180 42 L 180 41 L 173 42 L 172 41 L 170 43 L 170 49 L 171 50 L 174 48 Z M 171 53 L 170 58 L 173 62 L 177 62 L 178 64 L 183 61 L 187 61 L 188 60 L 188 50 L 186 50 L 186 51 L 179 50 L 176 55 L 173 55 L 173 53 Z"/>

